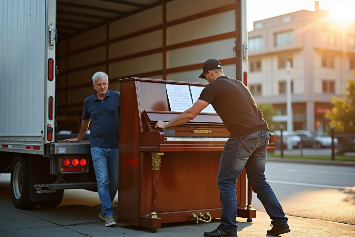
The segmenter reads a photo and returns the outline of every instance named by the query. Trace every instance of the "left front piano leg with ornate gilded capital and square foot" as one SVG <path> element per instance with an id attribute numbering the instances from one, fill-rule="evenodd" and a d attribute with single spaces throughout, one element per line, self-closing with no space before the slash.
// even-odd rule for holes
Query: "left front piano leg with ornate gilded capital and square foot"
<path id="1" fill-rule="evenodd" d="M 159 180 L 159 170 L 162 152 L 152 152 L 152 211 L 150 215 L 141 216 L 142 226 L 151 228 L 151 232 L 157 232 L 157 228 L 162 227 L 162 219 L 157 216 L 157 190 Z"/>

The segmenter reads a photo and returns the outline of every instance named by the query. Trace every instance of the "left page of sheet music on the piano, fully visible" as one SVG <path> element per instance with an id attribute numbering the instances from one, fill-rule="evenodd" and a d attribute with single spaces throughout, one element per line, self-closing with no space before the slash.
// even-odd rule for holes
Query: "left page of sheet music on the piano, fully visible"
<path id="1" fill-rule="evenodd" d="M 165 85 L 171 111 L 184 112 L 192 106 L 192 98 L 188 85 Z"/>

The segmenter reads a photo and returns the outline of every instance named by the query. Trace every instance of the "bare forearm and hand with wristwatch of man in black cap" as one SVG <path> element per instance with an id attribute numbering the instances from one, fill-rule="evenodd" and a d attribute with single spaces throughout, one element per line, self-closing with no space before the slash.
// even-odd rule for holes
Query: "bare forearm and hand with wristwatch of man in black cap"
<path id="1" fill-rule="evenodd" d="M 178 117 L 174 118 L 173 120 L 170 120 L 168 126 L 173 127 L 189 122 L 190 120 L 194 119 L 199 113 L 201 113 L 201 111 L 206 108 L 208 104 L 208 102 L 203 101 L 202 99 L 198 99 L 196 103 L 191 106 L 191 108 L 186 109 Z M 166 126 L 164 125 L 163 121 L 159 120 L 155 124 L 155 128 L 165 129 Z"/>

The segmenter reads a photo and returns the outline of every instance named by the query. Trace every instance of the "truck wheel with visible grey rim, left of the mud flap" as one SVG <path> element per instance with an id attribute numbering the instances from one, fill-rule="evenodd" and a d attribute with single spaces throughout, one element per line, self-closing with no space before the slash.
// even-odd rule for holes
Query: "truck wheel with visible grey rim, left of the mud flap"
<path id="1" fill-rule="evenodd" d="M 28 157 L 16 155 L 11 167 L 11 197 L 18 209 L 32 209 L 37 203 L 29 199 Z"/>

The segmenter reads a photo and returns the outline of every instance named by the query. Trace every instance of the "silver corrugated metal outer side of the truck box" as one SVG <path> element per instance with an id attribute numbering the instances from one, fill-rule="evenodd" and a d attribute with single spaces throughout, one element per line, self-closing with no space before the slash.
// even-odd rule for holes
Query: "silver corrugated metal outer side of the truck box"
<path id="1" fill-rule="evenodd" d="M 45 1 L 0 1 L 0 9 L 0 136 L 40 136 L 44 129 Z"/>

